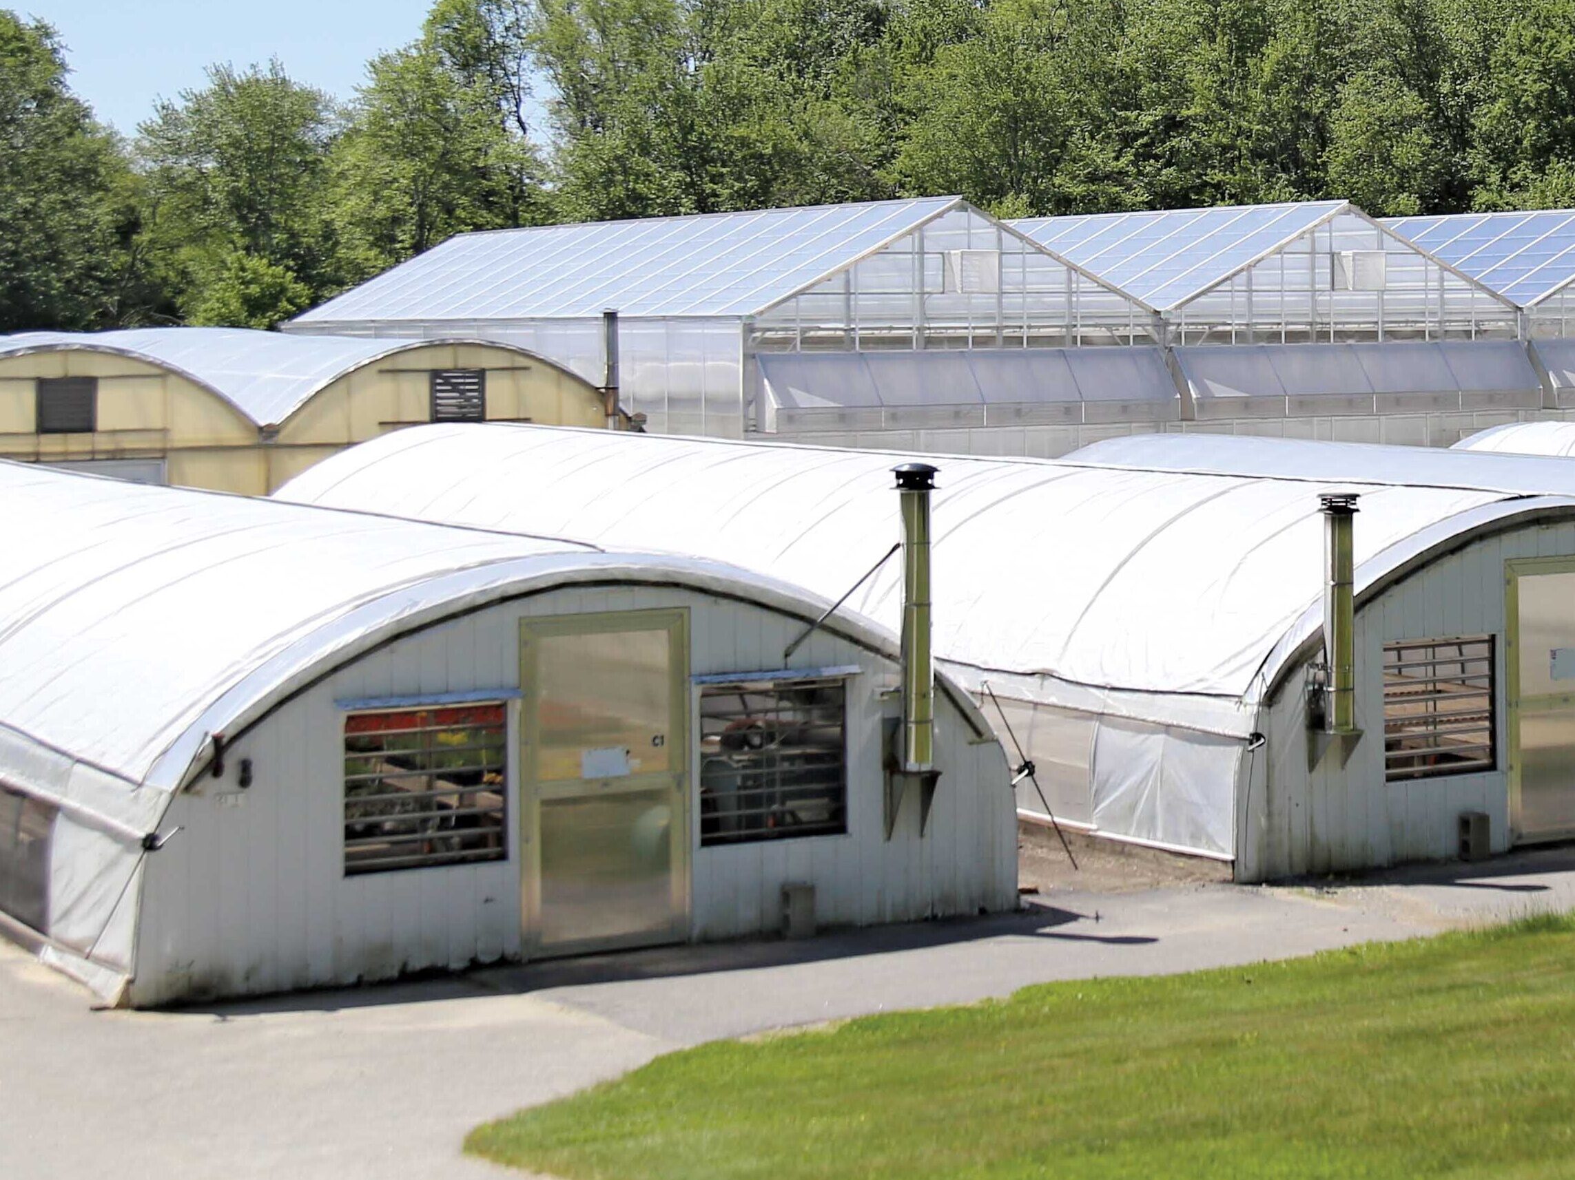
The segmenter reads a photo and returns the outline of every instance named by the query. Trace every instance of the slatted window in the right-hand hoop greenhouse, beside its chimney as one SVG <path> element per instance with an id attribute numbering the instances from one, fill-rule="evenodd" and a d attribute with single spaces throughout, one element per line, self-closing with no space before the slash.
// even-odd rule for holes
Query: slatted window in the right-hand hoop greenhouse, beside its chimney
<path id="1" fill-rule="evenodd" d="M 1447 651 L 1451 648 L 1452 653 Z M 1460 774 L 1493 774 L 1499 769 L 1498 650 L 1496 636 L 1395 639 L 1383 643 L 1380 659 L 1386 784 L 1444 779 Z M 1438 672 L 1438 669 L 1451 666 L 1458 667 L 1458 673 Z M 1466 670 L 1480 666 L 1485 669 Z M 1432 669 L 1433 673 L 1400 677 L 1399 672 L 1392 673 L 1392 669 Z M 1422 713 L 1400 713 L 1395 706 L 1403 703 L 1432 708 L 1424 708 Z M 1455 708 L 1440 711 L 1440 703 L 1454 703 Z M 1477 703 L 1480 706 L 1476 706 Z M 1474 721 L 1484 713 L 1485 719 Z M 1485 741 L 1454 743 L 1455 754 L 1477 750 L 1476 757 L 1458 757 L 1432 765 L 1421 761 L 1429 755 L 1451 754 L 1451 743 L 1441 743 L 1441 738 L 1480 738 L 1484 735 Z M 1405 738 L 1413 741 L 1421 738 L 1429 744 L 1406 747 L 1400 744 Z"/>

